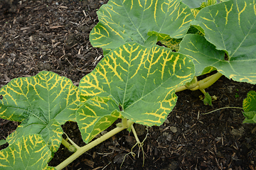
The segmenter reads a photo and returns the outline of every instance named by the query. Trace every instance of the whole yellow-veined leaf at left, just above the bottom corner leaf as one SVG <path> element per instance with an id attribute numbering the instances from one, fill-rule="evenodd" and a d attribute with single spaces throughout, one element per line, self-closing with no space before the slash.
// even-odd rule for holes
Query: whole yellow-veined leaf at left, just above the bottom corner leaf
<path id="1" fill-rule="evenodd" d="M 61 142 L 60 125 L 75 121 L 78 108 L 78 87 L 53 72 L 40 72 L 35 77 L 13 79 L 0 89 L 0 118 L 22 122 L 7 137 L 13 143 L 18 137 L 41 134 L 52 152 Z"/>

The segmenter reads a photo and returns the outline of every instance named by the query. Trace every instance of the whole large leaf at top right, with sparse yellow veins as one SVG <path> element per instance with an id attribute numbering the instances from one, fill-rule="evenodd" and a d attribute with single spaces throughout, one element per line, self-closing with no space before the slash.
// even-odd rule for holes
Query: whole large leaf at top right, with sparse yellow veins
<path id="1" fill-rule="evenodd" d="M 230 0 L 198 13 L 191 23 L 205 36 L 186 35 L 179 50 L 193 59 L 197 75 L 212 66 L 229 79 L 256 83 L 255 5 L 252 0 Z"/>

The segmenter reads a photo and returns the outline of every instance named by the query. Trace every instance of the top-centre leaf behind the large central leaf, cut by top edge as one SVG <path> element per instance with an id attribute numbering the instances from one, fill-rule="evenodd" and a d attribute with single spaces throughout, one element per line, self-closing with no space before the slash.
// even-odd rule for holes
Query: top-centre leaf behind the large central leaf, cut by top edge
<path id="1" fill-rule="evenodd" d="M 97 11 L 99 23 L 90 33 L 90 42 L 107 54 L 126 42 L 144 45 L 150 30 L 182 38 L 194 18 L 180 1 L 110 0 Z"/>

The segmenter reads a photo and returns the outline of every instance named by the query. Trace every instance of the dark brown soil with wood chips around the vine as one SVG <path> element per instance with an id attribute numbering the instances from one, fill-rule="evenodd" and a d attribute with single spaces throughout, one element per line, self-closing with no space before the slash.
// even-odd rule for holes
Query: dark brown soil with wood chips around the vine
<path id="1" fill-rule="evenodd" d="M 16 3 L 15 3 L 16 2 Z M 107 1 L 13 1 L 0 6 L 0 88 L 16 77 L 31 77 L 42 70 L 68 77 L 75 85 L 95 68 L 102 50 L 89 42 L 97 24 L 96 11 Z M 82 154 L 65 169 L 255 169 L 256 126 L 242 124 L 240 109 L 248 91 L 256 86 L 221 77 L 206 91 L 216 96 L 205 106 L 200 91 L 177 93 L 178 102 L 160 127 L 136 125 L 142 149 L 134 147 L 134 135 L 126 130 Z M 0 96 L 1 98 L 1 96 Z M 18 123 L 0 119 L 0 140 Z M 112 125 L 105 131 L 114 128 Z M 85 145 L 78 125 L 68 122 L 63 130 L 78 145 Z M 8 145 L 0 146 L 4 149 Z M 139 158 L 138 158 L 139 153 Z M 70 152 L 62 145 L 50 166 L 63 162 Z M 127 155 L 128 154 L 128 155 Z M 127 157 L 124 157 L 127 155 Z"/>

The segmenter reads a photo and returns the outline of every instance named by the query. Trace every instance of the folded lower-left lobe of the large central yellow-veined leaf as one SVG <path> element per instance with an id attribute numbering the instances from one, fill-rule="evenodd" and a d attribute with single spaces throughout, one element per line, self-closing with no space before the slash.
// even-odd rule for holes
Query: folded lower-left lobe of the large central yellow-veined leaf
<path id="1" fill-rule="evenodd" d="M 110 127 L 117 118 L 122 118 L 119 106 L 112 98 L 99 96 L 87 100 L 76 115 L 82 139 L 86 143 Z"/>

